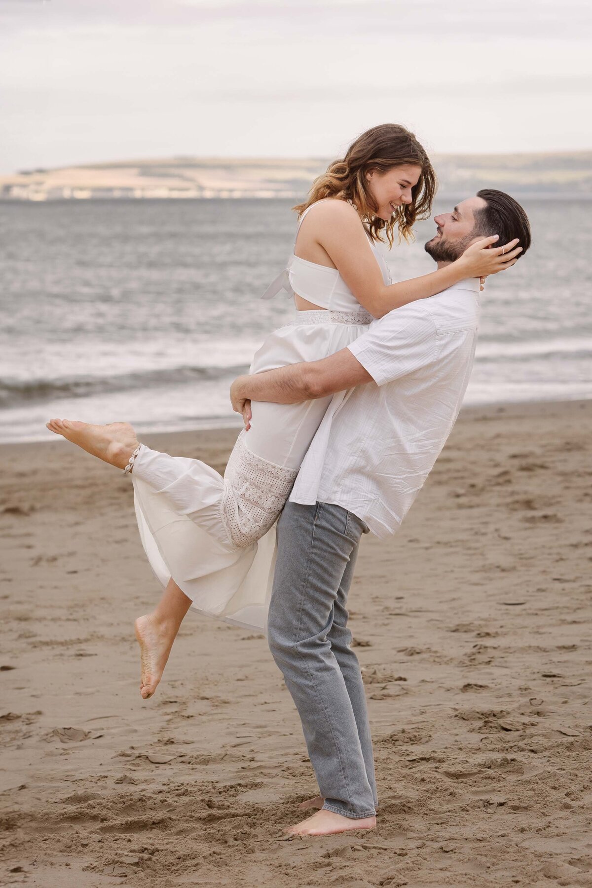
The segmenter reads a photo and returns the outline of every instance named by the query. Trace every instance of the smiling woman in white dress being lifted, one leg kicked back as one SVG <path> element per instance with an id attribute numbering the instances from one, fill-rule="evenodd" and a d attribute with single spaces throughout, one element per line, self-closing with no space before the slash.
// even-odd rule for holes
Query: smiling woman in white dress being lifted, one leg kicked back
<path id="1" fill-rule="evenodd" d="M 300 215 L 294 251 L 287 269 L 264 294 L 272 297 L 282 288 L 292 293 L 294 321 L 265 339 L 250 372 L 318 361 L 349 345 L 373 317 L 434 296 L 466 277 L 513 265 L 515 242 L 505 245 L 500 257 L 501 250 L 488 249 L 494 239 L 487 238 L 446 268 L 391 283 L 375 242 L 384 230 L 392 245 L 395 226 L 399 237 L 409 238 L 415 219 L 430 214 L 435 189 L 422 146 L 395 124 L 363 133 L 343 160 L 331 163 L 313 183 L 308 200 L 294 208 Z M 335 227 L 341 242 L 338 266 L 323 246 Z M 343 400 L 344 394 L 333 397 Z M 273 525 L 330 400 L 254 403 L 224 478 L 200 460 L 138 444 L 128 424 L 91 426 L 57 419 L 47 424 L 131 473 L 142 543 L 165 588 L 154 613 L 136 622 L 145 699 L 154 694 L 189 607 L 265 629 Z"/>

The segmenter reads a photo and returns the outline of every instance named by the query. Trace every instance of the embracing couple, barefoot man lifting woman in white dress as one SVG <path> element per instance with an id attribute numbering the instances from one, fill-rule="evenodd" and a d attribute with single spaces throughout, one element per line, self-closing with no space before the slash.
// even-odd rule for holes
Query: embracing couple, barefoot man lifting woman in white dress
<path id="1" fill-rule="evenodd" d="M 397 124 L 364 132 L 296 206 L 284 291 L 293 319 L 231 388 L 243 416 L 224 477 L 139 443 L 126 423 L 47 427 L 130 476 L 164 591 L 136 622 L 140 694 L 154 694 L 190 607 L 263 631 L 303 725 L 319 795 L 286 831 L 375 827 L 375 767 L 347 596 L 361 535 L 399 527 L 461 408 L 479 292 L 530 246 L 525 211 L 484 189 L 435 217 L 430 274 L 393 283 L 376 243 L 410 238 L 436 176 Z"/>

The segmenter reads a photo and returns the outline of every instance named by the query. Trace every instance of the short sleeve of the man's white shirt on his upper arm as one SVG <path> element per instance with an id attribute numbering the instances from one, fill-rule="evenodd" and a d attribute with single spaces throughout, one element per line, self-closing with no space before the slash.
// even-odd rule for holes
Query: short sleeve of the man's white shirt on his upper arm
<path id="1" fill-rule="evenodd" d="M 347 347 L 376 385 L 384 385 L 435 361 L 438 331 L 429 313 L 398 308 L 373 321 L 367 332 Z"/>

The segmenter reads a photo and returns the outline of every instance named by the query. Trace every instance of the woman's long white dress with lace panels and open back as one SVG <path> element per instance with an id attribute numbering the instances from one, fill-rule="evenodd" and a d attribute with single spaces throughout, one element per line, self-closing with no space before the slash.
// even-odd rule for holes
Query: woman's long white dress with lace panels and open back
<path id="1" fill-rule="evenodd" d="M 300 223 L 316 205 L 304 211 Z M 369 234 L 368 242 L 383 280 L 390 283 Z M 319 361 L 349 345 L 372 321 L 337 269 L 294 252 L 263 298 L 280 289 L 326 310 L 295 308 L 294 320 L 265 338 L 250 373 Z M 333 400 L 335 408 L 335 400 L 344 395 L 301 404 L 253 402 L 251 427 L 240 433 L 224 477 L 201 460 L 141 445 L 131 472 L 136 517 L 146 556 L 163 587 L 172 576 L 201 614 L 266 632 L 275 522 L 328 404 Z"/>

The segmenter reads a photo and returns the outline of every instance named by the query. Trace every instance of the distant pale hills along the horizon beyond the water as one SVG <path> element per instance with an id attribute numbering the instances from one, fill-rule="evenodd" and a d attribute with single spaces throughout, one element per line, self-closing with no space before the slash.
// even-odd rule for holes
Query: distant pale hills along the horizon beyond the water
<path id="1" fill-rule="evenodd" d="M 434 155 L 440 194 L 592 195 L 592 151 Z M 0 200 L 285 197 L 302 199 L 329 159 L 165 157 L 0 176 Z"/>

